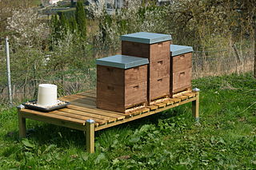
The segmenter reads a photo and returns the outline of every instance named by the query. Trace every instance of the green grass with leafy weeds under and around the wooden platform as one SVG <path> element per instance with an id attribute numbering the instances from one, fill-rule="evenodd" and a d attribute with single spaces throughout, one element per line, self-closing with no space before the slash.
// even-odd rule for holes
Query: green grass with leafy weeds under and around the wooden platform
<path id="1" fill-rule="evenodd" d="M 18 140 L 16 109 L 0 114 L 0 169 L 255 169 L 256 81 L 250 73 L 195 80 L 200 123 L 191 105 L 96 132 L 27 121 Z M 249 108 L 250 107 L 250 108 Z"/>

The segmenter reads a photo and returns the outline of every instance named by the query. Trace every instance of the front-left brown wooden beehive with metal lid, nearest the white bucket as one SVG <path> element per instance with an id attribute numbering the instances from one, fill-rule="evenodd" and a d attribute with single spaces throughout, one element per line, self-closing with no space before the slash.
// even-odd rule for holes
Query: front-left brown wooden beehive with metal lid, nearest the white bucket
<path id="1" fill-rule="evenodd" d="M 125 113 L 147 103 L 147 58 L 115 55 L 96 61 L 97 108 Z"/>

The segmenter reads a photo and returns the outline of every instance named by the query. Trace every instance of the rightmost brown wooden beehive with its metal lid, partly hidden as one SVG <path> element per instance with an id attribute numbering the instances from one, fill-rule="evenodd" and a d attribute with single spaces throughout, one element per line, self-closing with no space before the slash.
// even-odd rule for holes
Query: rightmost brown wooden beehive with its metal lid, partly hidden
<path id="1" fill-rule="evenodd" d="M 191 89 L 191 46 L 170 45 L 170 96 Z"/>

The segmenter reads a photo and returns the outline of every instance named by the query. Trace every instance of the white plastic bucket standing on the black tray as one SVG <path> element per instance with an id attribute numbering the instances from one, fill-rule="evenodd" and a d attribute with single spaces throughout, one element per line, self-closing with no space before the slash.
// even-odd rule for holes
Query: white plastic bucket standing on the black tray
<path id="1" fill-rule="evenodd" d="M 57 85 L 40 84 L 38 86 L 38 102 L 39 106 L 47 107 L 57 104 Z"/>

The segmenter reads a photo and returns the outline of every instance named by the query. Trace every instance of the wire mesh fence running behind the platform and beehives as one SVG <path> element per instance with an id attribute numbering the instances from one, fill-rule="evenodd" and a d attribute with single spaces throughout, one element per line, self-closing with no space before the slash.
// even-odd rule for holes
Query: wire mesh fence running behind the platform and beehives
<path id="1" fill-rule="evenodd" d="M 213 51 L 194 51 L 192 59 L 192 77 L 218 76 L 230 73 L 246 73 L 254 68 L 254 55 L 251 50 L 240 53 L 238 58 L 232 49 Z M 26 74 L 30 77 L 26 78 Z M 58 95 L 78 93 L 96 86 L 96 68 L 92 65 L 83 69 L 38 69 L 39 76 L 31 71 L 11 72 L 14 103 L 37 97 L 38 84 L 58 85 Z M 0 102 L 8 103 L 8 89 L 5 68 L 0 70 Z"/>

